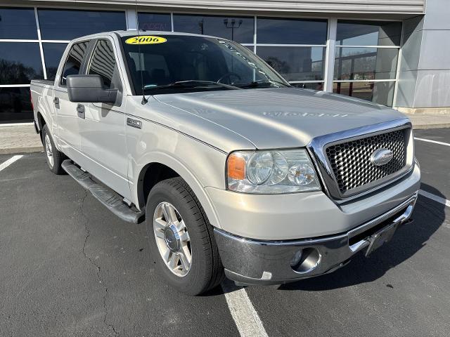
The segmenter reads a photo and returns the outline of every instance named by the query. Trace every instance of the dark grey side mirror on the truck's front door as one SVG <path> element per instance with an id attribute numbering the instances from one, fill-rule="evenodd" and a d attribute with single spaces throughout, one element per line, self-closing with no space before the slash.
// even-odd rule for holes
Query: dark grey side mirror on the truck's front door
<path id="1" fill-rule="evenodd" d="M 69 100 L 75 103 L 115 103 L 117 89 L 103 88 L 100 75 L 69 75 L 66 81 Z"/>

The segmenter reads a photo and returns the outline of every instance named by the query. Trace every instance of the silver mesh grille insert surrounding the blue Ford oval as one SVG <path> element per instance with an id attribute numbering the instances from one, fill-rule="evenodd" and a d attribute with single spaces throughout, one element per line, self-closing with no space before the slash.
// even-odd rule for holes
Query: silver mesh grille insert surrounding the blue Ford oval
<path id="1" fill-rule="evenodd" d="M 376 166 L 371 163 L 371 154 L 381 148 L 391 150 L 394 156 L 389 163 Z M 326 147 L 326 157 L 333 170 L 338 189 L 345 194 L 404 168 L 405 129 L 329 145 Z"/>

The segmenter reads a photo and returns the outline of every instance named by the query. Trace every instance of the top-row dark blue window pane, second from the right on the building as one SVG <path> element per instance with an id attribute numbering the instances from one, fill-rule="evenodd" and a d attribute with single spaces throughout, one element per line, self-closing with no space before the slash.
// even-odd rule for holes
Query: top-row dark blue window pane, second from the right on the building
<path id="1" fill-rule="evenodd" d="M 326 44 L 327 20 L 257 19 L 258 44 Z"/>

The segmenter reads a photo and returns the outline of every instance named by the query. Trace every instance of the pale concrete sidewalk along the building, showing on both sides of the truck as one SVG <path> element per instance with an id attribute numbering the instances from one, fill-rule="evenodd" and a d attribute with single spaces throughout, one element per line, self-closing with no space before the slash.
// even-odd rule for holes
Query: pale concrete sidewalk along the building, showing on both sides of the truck
<path id="1" fill-rule="evenodd" d="M 450 128 L 450 114 L 408 114 L 413 128 Z M 0 124 L 0 154 L 41 152 L 43 147 L 32 124 Z"/>

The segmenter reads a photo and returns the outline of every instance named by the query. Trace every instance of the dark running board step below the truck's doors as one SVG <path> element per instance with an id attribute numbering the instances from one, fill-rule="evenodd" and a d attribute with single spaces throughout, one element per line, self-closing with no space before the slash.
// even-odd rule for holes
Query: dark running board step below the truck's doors
<path id="1" fill-rule="evenodd" d="M 141 223 L 143 221 L 143 212 L 134 211 L 127 204 L 124 203 L 123 198 L 110 188 L 96 183 L 89 173 L 82 171 L 78 166 L 72 163 L 70 159 L 66 159 L 61 164 L 64 171 L 69 176 L 77 180 L 79 185 L 89 190 L 91 194 L 112 211 L 116 216 L 127 223 Z"/>

